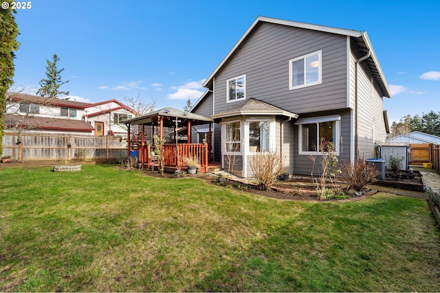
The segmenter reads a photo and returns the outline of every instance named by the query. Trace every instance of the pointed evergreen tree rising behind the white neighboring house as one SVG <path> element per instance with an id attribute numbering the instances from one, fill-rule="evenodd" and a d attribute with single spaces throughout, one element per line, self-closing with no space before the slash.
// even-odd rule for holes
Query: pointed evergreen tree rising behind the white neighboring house
<path id="1" fill-rule="evenodd" d="M 58 62 L 60 58 L 54 54 L 53 61 L 50 62 L 46 60 L 46 76 L 47 78 L 43 78 L 40 82 L 41 88 L 36 92 L 37 95 L 41 95 L 41 97 L 51 97 L 58 98 L 58 95 L 69 95 L 69 91 L 59 91 L 60 86 L 63 84 L 67 84 L 69 80 L 66 82 L 61 81 L 61 72 L 64 70 L 58 70 L 56 68 L 56 62 Z"/>

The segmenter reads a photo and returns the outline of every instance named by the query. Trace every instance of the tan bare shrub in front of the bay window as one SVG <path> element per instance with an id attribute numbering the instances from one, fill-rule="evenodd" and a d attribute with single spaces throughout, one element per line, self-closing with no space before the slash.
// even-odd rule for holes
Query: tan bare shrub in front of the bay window
<path id="1" fill-rule="evenodd" d="M 283 174 L 284 158 L 277 152 L 258 152 L 250 159 L 250 167 L 262 190 L 274 185 L 278 176 Z"/>

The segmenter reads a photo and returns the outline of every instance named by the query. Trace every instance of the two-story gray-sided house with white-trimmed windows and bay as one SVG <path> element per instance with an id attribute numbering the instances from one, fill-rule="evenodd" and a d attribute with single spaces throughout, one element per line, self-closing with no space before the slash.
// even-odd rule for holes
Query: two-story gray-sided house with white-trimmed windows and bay
<path id="1" fill-rule="evenodd" d="M 353 163 L 389 132 L 391 93 L 366 32 L 260 16 L 203 86 L 191 111 L 214 119 L 212 157 L 223 168 L 234 158 L 243 177 L 256 152 L 281 152 L 286 172 L 310 174 L 320 138 Z"/>

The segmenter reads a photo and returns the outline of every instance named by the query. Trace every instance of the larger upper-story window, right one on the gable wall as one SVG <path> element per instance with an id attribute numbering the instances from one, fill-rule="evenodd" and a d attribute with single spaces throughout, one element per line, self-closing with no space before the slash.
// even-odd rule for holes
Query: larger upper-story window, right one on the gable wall
<path id="1" fill-rule="evenodd" d="M 322 83 L 322 51 L 289 60 L 289 89 Z"/>

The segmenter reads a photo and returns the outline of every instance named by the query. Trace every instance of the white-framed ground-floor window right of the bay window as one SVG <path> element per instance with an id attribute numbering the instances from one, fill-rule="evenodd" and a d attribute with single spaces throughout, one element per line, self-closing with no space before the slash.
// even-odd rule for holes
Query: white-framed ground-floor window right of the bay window
<path id="1" fill-rule="evenodd" d="M 333 143 L 336 153 L 339 154 L 339 115 L 300 119 L 296 124 L 298 124 L 299 154 L 322 154 L 321 139 Z"/>

